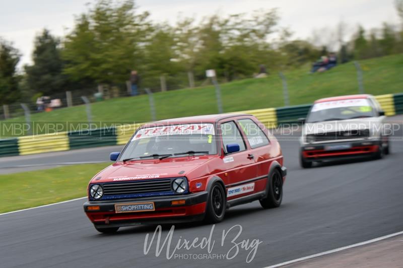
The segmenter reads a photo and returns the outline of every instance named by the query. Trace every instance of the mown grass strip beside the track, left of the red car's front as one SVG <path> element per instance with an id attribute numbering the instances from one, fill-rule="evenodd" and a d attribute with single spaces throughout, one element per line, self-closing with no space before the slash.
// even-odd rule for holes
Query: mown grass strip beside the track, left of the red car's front
<path id="1" fill-rule="evenodd" d="M 108 165 L 72 165 L 0 175 L 0 213 L 86 196 L 90 179 Z"/>

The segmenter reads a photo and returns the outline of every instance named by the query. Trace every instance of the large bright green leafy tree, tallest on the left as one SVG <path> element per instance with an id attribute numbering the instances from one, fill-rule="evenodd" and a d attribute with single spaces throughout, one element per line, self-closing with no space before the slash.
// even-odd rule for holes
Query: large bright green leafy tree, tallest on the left
<path id="1" fill-rule="evenodd" d="M 64 40 L 64 73 L 75 81 L 121 84 L 143 62 L 149 14 L 132 1 L 100 0 L 76 21 Z"/>

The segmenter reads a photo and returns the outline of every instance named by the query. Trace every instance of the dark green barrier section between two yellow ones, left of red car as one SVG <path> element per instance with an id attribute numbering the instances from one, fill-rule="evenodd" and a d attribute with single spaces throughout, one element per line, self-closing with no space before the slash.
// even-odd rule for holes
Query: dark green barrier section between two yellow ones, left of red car
<path id="1" fill-rule="evenodd" d="M 116 145 L 116 128 L 106 127 L 68 133 L 71 149 Z"/>

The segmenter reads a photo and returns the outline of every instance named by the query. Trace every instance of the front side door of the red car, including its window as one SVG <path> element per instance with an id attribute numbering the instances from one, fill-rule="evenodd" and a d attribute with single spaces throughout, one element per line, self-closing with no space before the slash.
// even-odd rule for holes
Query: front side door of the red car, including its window
<path id="1" fill-rule="evenodd" d="M 250 152 L 235 121 L 220 123 L 220 131 L 222 150 L 224 151 L 222 160 L 229 182 L 226 185 L 227 199 L 248 195 L 254 191 L 254 183 L 248 183 L 247 181 L 256 177 L 255 160 L 250 156 Z M 239 152 L 227 153 L 226 147 L 228 144 L 238 144 Z"/>

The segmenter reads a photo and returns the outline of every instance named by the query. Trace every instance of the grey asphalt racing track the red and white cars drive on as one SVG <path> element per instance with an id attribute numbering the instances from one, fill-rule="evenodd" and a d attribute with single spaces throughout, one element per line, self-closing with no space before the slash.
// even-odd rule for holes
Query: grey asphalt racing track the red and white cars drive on
<path id="1" fill-rule="evenodd" d="M 402 231 L 401 131 L 397 136 L 400 138 L 391 142 L 392 154 L 382 160 L 338 162 L 311 169 L 299 167 L 295 139 L 281 141 L 288 168 L 282 206 L 263 210 L 253 202 L 231 208 L 213 231 L 211 254 L 226 254 L 234 246 L 233 239 L 235 243 L 259 239 L 261 243 L 250 263 L 246 258 L 251 249 L 242 249 L 241 245 L 233 259 L 189 255 L 208 254 L 207 248 L 182 248 L 175 253 L 185 255 L 167 259 L 167 245 L 156 257 L 157 237 L 145 255 L 146 234 L 152 236 L 156 226 L 122 228 L 115 235 L 98 234 L 83 213 L 81 199 L 0 215 L 0 267 L 263 267 Z M 114 149 L 88 152 L 103 161 L 102 154 Z M 61 155 L 59 160 L 63 162 L 80 160 L 77 151 L 70 157 Z M 222 246 L 223 231 L 236 225 L 242 226 L 242 233 L 236 238 L 235 227 Z M 170 227 L 163 226 L 160 245 Z M 198 223 L 176 225 L 170 252 L 178 239 L 208 238 L 211 229 L 211 225 Z M 228 256 L 233 253 L 234 249 Z"/>

